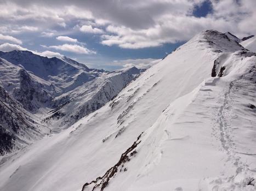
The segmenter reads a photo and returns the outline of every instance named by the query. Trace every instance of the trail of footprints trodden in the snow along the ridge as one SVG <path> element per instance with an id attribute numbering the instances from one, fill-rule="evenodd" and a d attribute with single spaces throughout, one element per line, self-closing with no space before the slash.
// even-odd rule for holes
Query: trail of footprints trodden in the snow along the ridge
<path id="1" fill-rule="evenodd" d="M 227 91 L 224 94 L 220 94 L 218 103 L 221 104 L 216 117 L 216 122 L 214 123 L 215 129 L 219 129 L 219 140 L 223 150 L 227 154 L 227 159 L 225 161 L 226 166 L 234 165 L 236 167 L 235 174 L 230 177 L 219 177 L 211 182 L 213 186 L 212 190 L 254 190 L 254 188 L 244 188 L 246 184 L 254 181 L 255 173 L 249 169 L 249 165 L 241 160 L 238 154 L 247 154 L 249 156 L 254 156 L 254 154 L 236 152 L 236 145 L 234 140 L 232 140 L 232 128 L 230 123 L 232 121 L 232 111 L 231 108 L 234 106 L 234 100 L 232 99 L 231 93 L 234 93 L 234 86 L 236 81 L 240 79 L 226 83 Z M 244 86 L 243 84 L 241 86 Z M 215 134 L 215 133 L 214 133 Z M 236 180 L 238 179 L 238 180 Z M 238 184 L 240 181 L 240 184 Z M 242 181 L 242 184 L 241 184 Z M 238 187 L 238 188 L 237 188 Z"/>

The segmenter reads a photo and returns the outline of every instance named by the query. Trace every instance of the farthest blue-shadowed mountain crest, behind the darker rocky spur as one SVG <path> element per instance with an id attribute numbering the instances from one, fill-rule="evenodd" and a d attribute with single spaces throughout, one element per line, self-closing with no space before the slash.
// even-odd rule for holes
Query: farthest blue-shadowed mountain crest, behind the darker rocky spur
<path id="1" fill-rule="evenodd" d="M 0 51 L 0 57 L 37 76 L 37 81 L 46 81 L 53 96 L 71 91 L 104 73 L 104 70 L 89 69 L 67 57 L 47 58 L 29 51 Z"/>

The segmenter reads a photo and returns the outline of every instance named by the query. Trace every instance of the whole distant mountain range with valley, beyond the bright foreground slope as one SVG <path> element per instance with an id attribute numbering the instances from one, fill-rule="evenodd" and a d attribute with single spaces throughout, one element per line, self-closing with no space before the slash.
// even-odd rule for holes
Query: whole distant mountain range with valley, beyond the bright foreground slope
<path id="1" fill-rule="evenodd" d="M 68 127 L 99 109 L 141 71 L 131 68 L 109 73 L 89 69 L 67 57 L 47 58 L 29 51 L 0 52 L 2 99 L 14 103 L 5 106 L 8 104 L 2 100 L 5 105 L 1 108 L 0 154 L 31 144 L 49 131 Z M 56 118 L 64 115 L 55 125 Z M 45 125 L 49 127 L 46 130 Z"/>

